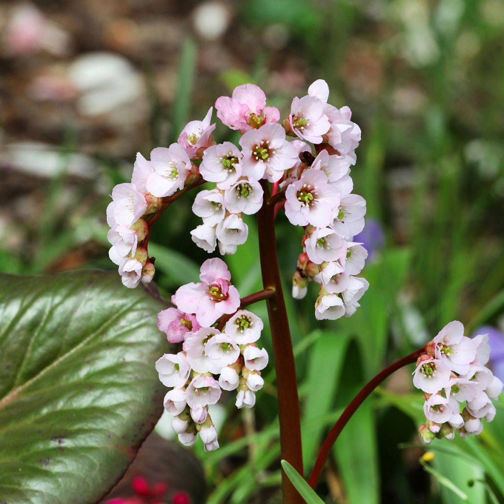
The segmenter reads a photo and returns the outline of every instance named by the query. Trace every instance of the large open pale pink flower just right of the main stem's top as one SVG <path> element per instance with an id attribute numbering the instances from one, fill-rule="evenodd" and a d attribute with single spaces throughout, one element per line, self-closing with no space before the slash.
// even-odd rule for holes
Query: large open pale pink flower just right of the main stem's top
<path id="1" fill-rule="evenodd" d="M 320 170 L 303 171 L 301 178 L 287 187 L 285 197 L 285 215 L 295 226 L 326 227 L 340 204 L 338 192 Z"/>

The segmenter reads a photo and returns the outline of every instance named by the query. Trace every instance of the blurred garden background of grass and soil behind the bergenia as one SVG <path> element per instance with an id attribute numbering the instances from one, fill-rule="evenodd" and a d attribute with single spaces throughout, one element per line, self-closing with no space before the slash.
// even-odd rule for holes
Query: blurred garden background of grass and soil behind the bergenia
<path id="1" fill-rule="evenodd" d="M 307 474 L 363 383 L 451 320 L 490 334 L 504 380 L 503 27 L 501 0 L 3 0 L 0 271 L 113 269 L 105 208 L 137 151 L 176 141 L 236 85 L 260 85 L 284 117 L 323 78 L 329 102 L 349 105 L 362 129 L 352 175 L 368 205 L 370 287 L 352 318 L 323 324 L 316 286 L 303 301 L 287 296 Z M 234 133 L 218 124 L 215 138 Z M 207 258 L 189 235 L 193 198 L 159 219 L 149 243 L 167 298 Z M 277 222 L 289 291 L 302 230 Z M 247 243 L 226 257 L 242 295 L 261 288 L 253 217 L 248 225 Z M 262 341 L 271 351 L 268 328 Z M 422 464 L 411 371 L 352 418 L 319 493 L 350 504 L 504 502 L 504 402 L 477 439 L 435 440 Z M 280 501 L 271 364 L 264 375 L 254 410 L 237 411 L 230 394 L 212 414 L 222 448 L 193 450 L 210 504 Z M 170 436 L 165 421 L 159 431 Z"/>

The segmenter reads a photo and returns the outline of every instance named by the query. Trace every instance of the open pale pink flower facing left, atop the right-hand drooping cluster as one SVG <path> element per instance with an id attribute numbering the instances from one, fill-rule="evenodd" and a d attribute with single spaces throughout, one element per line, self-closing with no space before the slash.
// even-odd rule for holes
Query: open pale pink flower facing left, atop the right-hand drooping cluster
<path id="1" fill-rule="evenodd" d="M 324 102 L 316 96 L 296 96 L 290 107 L 289 123 L 296 136 L 312 144 L 321 144 L 322 135 L 330 127 L 329 119 L 324 113 Z"/>

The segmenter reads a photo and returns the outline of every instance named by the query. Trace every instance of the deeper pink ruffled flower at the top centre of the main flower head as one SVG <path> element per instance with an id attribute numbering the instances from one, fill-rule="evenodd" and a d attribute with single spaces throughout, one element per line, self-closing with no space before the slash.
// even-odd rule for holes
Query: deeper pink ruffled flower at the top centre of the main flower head
<path id="1" fill-rule="evenodd" d="M 215 108 L 217 117 L 224 124 L 242 134 L 280 119 L 278 109 L 266 106 L 264 91 L 254 84 L 243 84 L 234 88 L 231 97 L 217 98 Z"/>

